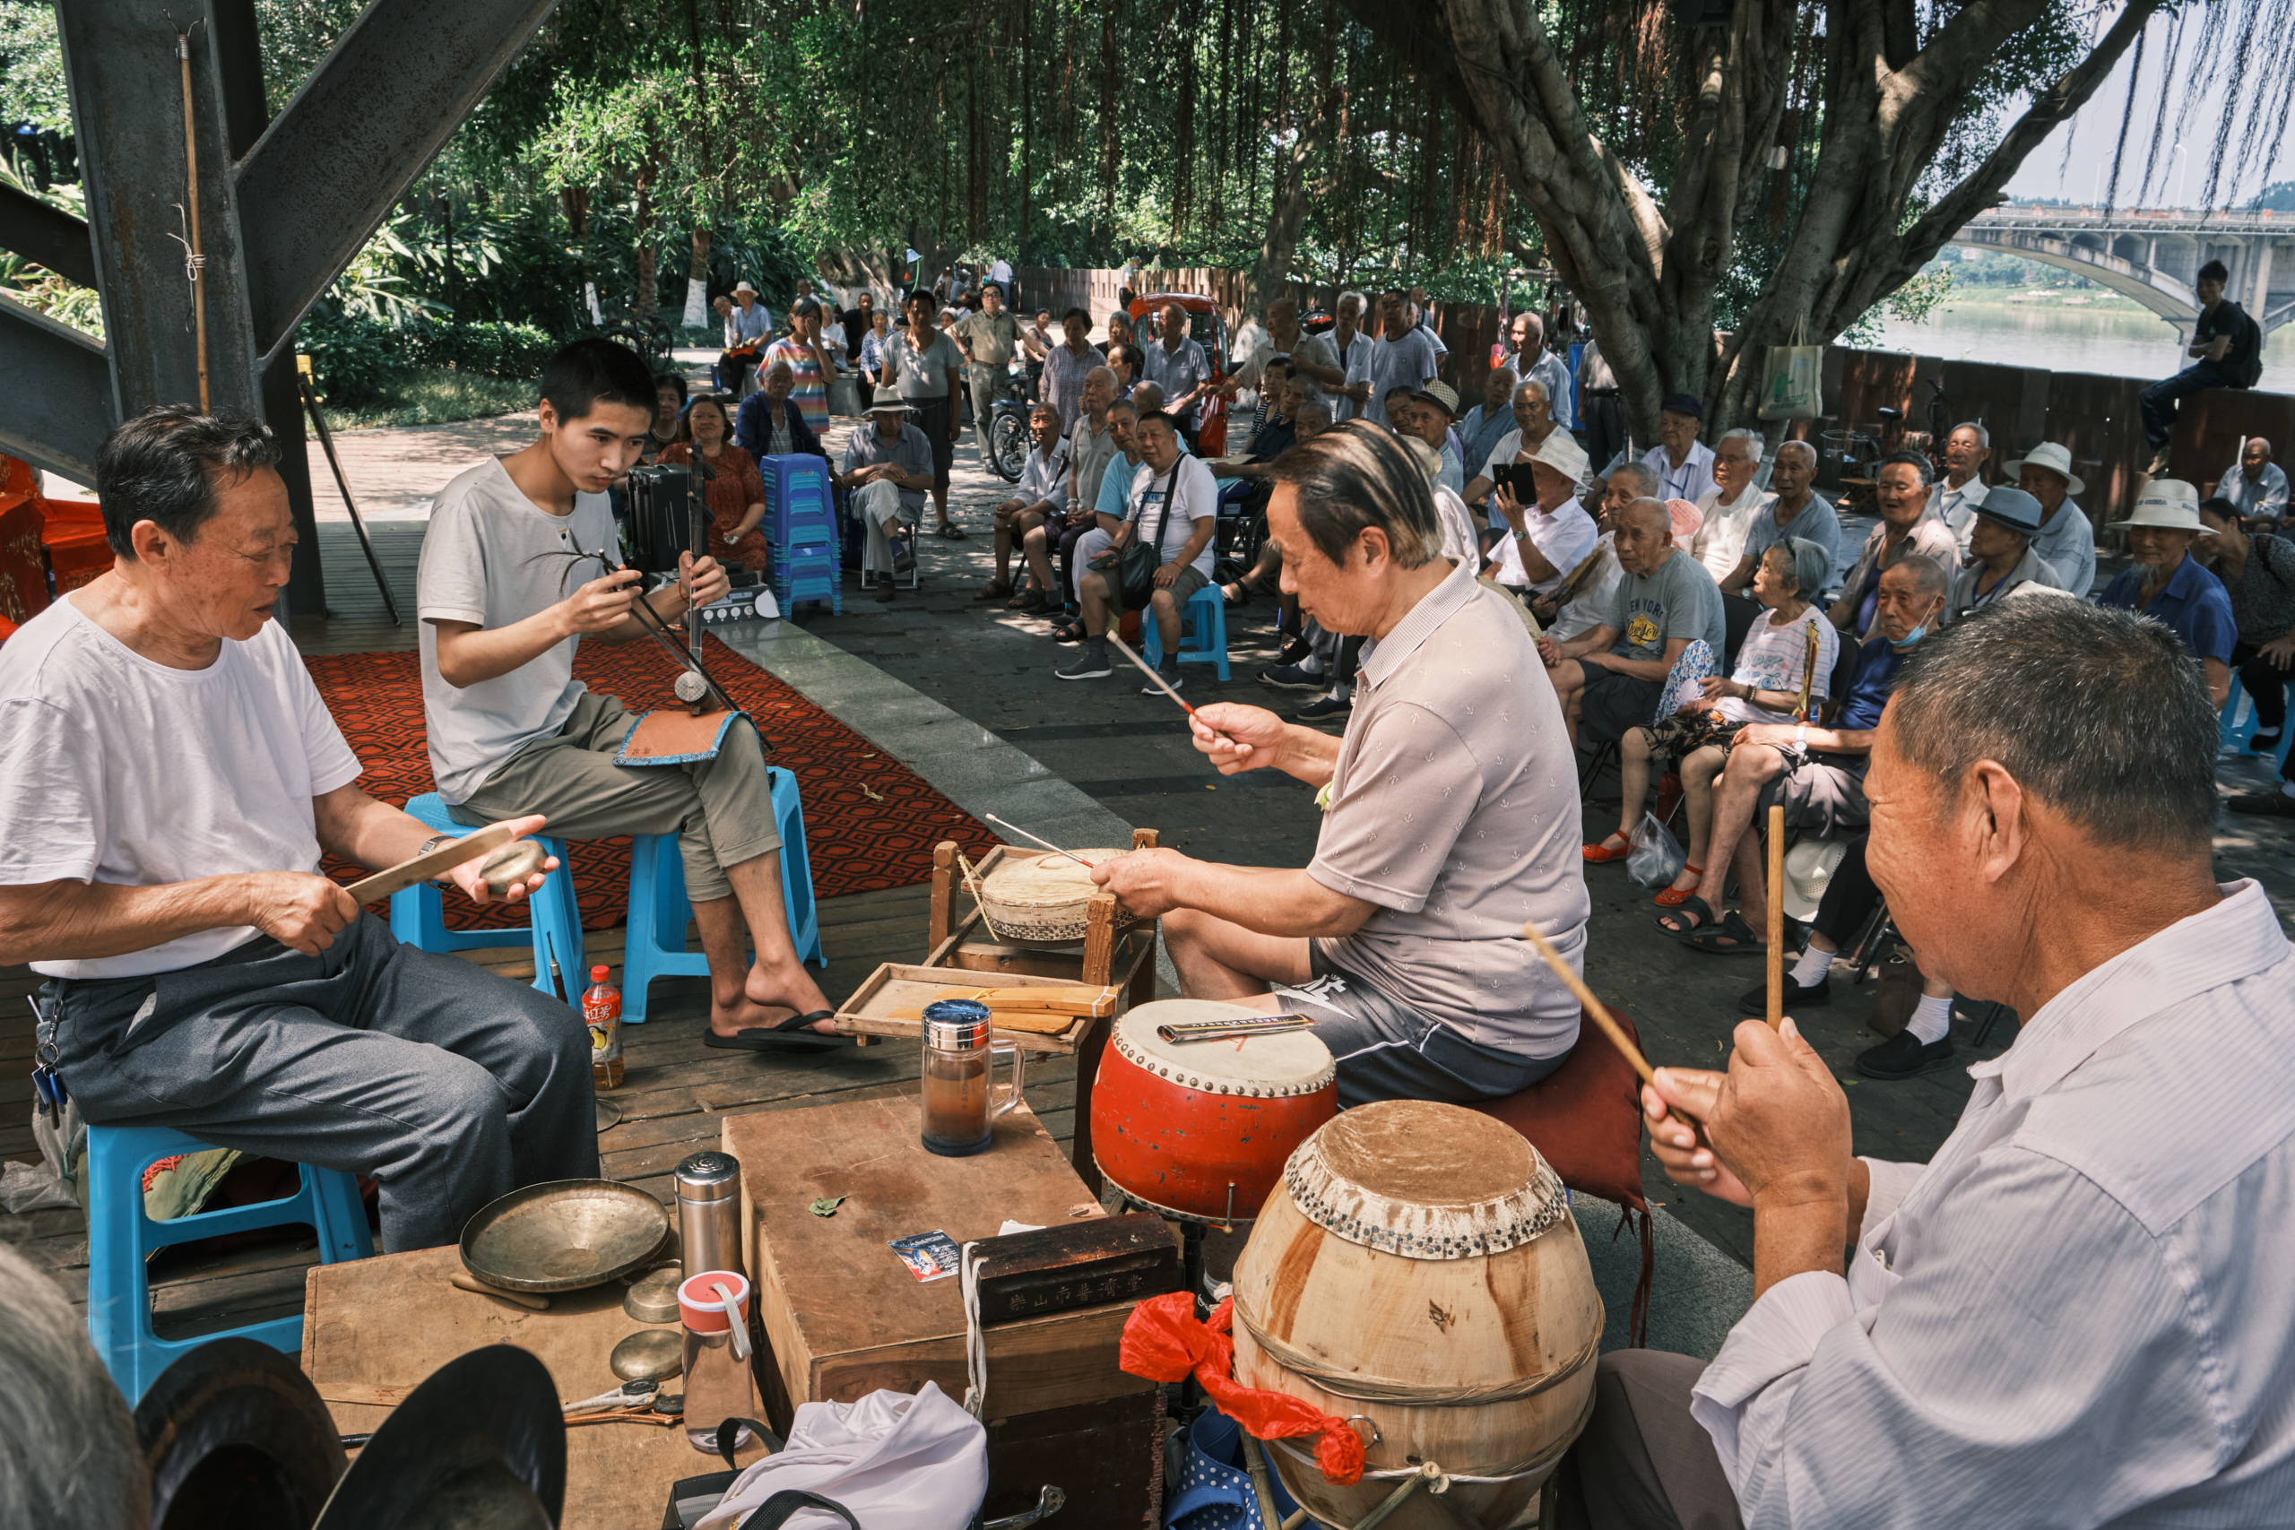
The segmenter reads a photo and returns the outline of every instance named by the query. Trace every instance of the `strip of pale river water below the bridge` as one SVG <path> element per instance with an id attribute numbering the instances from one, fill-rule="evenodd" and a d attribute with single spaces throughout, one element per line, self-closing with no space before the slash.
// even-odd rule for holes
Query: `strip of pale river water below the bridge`
<path id="1" fill-rule="evenodd" d="M 2166 321 L 2125 307 L 1939 303 L 1921 323 L 1886 319 L 1882 349 L 2052 372 L 2155 378 L 2185 365 Z M 2295 392 L 2295 323 L 2263 342 L 2263 392 Z"/>

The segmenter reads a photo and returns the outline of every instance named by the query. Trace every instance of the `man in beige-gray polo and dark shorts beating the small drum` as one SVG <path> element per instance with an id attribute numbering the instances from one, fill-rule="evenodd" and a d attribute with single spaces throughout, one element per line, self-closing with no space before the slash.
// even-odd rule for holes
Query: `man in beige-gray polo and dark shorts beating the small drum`
<path id="1" fill-rule="evenodd" d="M 1427 479 L 1347 422 L 1274 463 L 1283 592 L 1363 633 L 1343 739 L 1214 702 L 1196 748 L 1221 775 L 1274 766 L 1327 791 L 1304 869 L 1134 851 L 1092 881 L 1164 938 L 1189 998 L 1297 1009 L 1338 1060 L 1340 1106 L 1494 1099 L 1545 1078 L 1579 1007 L 1522 938 L 1586 950 L 1577 768 L 1517 610 L 1437 553 Z M 1269 989 L 1274 989 L 1269 993 Z"/>

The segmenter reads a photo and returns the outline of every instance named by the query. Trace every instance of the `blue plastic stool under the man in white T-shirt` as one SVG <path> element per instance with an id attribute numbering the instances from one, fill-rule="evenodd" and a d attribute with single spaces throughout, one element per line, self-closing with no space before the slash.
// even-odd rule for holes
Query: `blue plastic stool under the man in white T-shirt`
<path id="1" fill-rule="evenodd" d="M 87 1337 L 103 1356 L 129 1406 L 142 1399 L 179 1356 L 220 1337 L 257 1340 L 287 1353 L 303 1351 L 303 1319 L 275 1317 L 195 1340 L 151 1333 L 151 1282 L 145 1257 L 154 1248 L 190 1243 L 248 1227 L 308 1223 L 319 1234 L 319 1262 L 342 1264 L 374 1255 L 358 1179 L 340 1170 L 296 1165 L 303 1188 L 287 1200 L 227 1207 L 154 1223 L 142 1209 L 142 1174 L 161 1158 L 207 1152 L 209 1145 L 170 1126 L 87 1129 Z"/>

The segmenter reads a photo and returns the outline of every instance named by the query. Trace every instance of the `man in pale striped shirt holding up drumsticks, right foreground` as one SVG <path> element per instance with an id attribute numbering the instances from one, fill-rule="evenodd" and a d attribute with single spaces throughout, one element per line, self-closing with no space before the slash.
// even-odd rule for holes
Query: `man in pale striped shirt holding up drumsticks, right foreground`
<path id="1" fill-rule="evenodd" d="M 1790 1018 L 1657 1069 L 1650 1147 L 1751 1207 L 1753 1305 L 1712 1365 L 1600 1360 L 1561 1523 L 2290 1521 L 2295 950 L 2217 885 L 2215 743 L 2123 610 L 2013 596 L 1905 665 L 1868 869 L 1923 968 L 2024 1025 L 1928 1163 L 1854 1156 Z"/>

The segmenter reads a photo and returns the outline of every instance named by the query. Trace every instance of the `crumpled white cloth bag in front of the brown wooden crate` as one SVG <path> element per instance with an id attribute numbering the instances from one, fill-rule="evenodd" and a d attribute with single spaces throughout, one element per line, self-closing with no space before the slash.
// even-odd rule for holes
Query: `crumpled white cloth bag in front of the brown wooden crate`
<path id="1" fill-rule="evenodd" d="M 835 1498 L 868 1530 L 964 1530 L 989 1491 L 989 1431 L 927 1381 L 909 1392 L 796 1408 L 787 1450 L 741 1473 L 695 1530 L 730 1530 L 773 1493 Z M 799 1509 L 787 1530 L 847 1530 Z"/>

